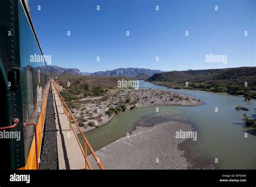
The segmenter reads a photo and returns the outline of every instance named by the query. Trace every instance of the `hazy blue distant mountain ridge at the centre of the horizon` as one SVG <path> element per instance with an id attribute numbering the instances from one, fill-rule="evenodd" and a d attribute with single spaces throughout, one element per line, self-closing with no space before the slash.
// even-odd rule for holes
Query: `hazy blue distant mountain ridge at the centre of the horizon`
<path id="1" fill-rule="evenodd" d="M 107 76 L 114 76 L 114 75 L 119 75 L 119 76 L 125 76 L 125 77 L 136 77 L 139 74 L 146 74 L 149 76 L 154 75 L 155 73 L 161 73 L 163 71 L 161 70 L 151 70 L 151 69 L 145 69 L 145 68 L 118 68 L 114 70 L 107 70 L 107 71 L 97 71 L 91 75 L 107 75 Z"/>

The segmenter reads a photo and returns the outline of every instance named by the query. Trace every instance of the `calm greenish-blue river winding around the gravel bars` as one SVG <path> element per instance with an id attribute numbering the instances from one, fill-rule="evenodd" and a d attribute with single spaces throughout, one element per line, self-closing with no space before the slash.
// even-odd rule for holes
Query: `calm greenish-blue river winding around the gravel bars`
<path id="1" fill-rule="evenodd" d="M 161 85 L 139 81 L 140 88 L 179 92 L 201 99 L 200 106 L 159 106 L 163 121 L 173 116 L 188 121 L 197 131 L 197 141 L 191 141 L 189 150 L 215 161 L 217 169 L 256 169 L 256 134 L 244 126 L 242 114 L 248 116 L 256 107 L 256 100 L 244 102 L 244 97 L 196 90 L 167 89 Z M 235 106 L 245 106 L 250 111 L 237 111 Z M 218 107 L 218 112 L 215 112 Z M 132 133 L 137 121 L 156 114 L 156 106 L 140 107 L 122 112 L 98 128 L 85 132 L 94 150 Z M 248 134 L 245 138 L 245 133 Z"/>

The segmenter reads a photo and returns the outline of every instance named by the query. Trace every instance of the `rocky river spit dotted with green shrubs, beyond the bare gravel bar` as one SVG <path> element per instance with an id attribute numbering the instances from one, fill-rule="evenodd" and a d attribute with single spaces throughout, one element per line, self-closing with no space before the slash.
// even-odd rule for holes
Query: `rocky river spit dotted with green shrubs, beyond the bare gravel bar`
<path id="1" fill-rule="evenodd" d="M 171 91 L 157 89 L 126 89 L 112 91 L 111 95 L 91 97 L 69 102 L 68 106 L 83 132 L 109 122 L 112 117 L 135 107 L 160 105 L 197 106 L 200 99 Z"/>

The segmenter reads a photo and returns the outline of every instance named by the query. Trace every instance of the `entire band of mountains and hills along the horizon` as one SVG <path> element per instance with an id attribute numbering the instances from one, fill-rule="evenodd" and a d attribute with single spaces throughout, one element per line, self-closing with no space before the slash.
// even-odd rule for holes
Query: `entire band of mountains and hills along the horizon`
<path id="1" fill-rule="evenodd" d="M 45 67 L 46 68 L 46 67 Z M 79 69 L 48 66 L 52 77 L 91 75 L 99 78 L 112 76 L 132 77 L 150 81 L 176 89 L 196 89 L 212 92 L 227 92 L 231 95 L 247 95 L 256 99 L 256 67 L 225 69 L 203 69 L 186 71 L 161 71 L 144 68 L 118 68 L 95 73 L 81 72 Z M 108 77 L 111 76 L 111 77 Z M 89 78 L 89 77 L 87 77 Z M 119 77 L 120 78 L 120 77 Z M 100 79 L 102 79 L 100 77 Z M 187 82 L 185 85 L 185 82 Z"/>

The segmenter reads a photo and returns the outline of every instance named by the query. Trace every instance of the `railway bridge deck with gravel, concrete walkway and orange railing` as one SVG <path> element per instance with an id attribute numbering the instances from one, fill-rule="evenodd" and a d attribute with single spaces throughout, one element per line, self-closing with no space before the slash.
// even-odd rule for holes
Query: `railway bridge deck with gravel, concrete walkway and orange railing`
<path id="1" fill-rule="evenodd" d="M 82 135 L 82 141 L 77 132 Z M 55 81 L 51 80 L 39 169 L 93 169 L 87 159 L 88 150 L 98 167 L 104 169 L 57 90 Z"/>

